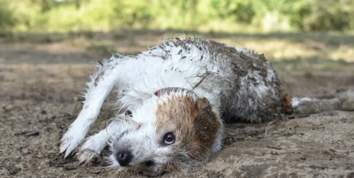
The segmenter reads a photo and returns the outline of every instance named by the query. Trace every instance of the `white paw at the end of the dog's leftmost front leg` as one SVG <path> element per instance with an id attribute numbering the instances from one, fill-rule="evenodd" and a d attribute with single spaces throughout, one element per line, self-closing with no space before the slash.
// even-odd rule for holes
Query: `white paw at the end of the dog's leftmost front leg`
<path id="1" fill-rule="evenodd" d="M 71 124 L 60 138 L 59 154 L 64 154 L 64 158 L 72 156 L 85 136 L 86 131 L 82 127 L 76 128 L 74 123 Z"/>

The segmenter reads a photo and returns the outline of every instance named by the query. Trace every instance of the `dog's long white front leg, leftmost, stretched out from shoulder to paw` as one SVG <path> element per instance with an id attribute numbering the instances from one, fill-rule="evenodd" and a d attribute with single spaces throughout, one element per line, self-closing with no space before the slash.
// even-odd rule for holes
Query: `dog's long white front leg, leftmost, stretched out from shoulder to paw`
<path id="1" fill-rule="evenodd" d="M 59 153 L 64 154 L 64 157 L 72 155 L 72 152 L 84 140 L 98 117 L 104 100 L 116 82 L 119 82 L 120 73 L 118 73 L 117 66 L 112 67 L 109 63 L 100 64 L 96 74 L 91 77 L 91 82 L 87 83 L 89 88 L 80 114 L 60 139 Z"/>

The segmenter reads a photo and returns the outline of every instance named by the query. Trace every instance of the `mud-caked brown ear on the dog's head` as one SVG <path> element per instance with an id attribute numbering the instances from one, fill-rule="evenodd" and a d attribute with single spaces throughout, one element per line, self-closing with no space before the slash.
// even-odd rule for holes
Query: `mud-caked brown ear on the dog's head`
<path id="1" fill-rule="evenodd" d="M 194 118 L 194 128 L 200 143 L 210 148 L 214 144 L 214 140 L 221 123 L 212 111 L 211 105 L 206 98 L 197 99 L 196 108 L 198 114 Z"/>

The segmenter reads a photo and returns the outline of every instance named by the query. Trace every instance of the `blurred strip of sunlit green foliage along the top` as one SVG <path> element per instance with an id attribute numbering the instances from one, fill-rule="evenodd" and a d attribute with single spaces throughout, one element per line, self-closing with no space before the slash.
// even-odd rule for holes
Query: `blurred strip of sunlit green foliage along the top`
<path id="1" fill-rule="evenodd" d="M 347 31 L 352 19 L 353 0 L 0 0 L 3 30 Z"/>

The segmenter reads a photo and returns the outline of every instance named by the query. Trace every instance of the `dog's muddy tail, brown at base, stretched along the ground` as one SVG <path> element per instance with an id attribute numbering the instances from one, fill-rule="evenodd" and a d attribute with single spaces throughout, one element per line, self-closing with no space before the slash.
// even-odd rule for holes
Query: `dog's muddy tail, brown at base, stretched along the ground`
<path id="1" fill-rule="evenodd" d="M 326 111 L 354 111 L 354 89 L 340 88 L 336 94 L 318 97 L 283 95 L 282 108 L 287 114 L 317 114 Z"/>

